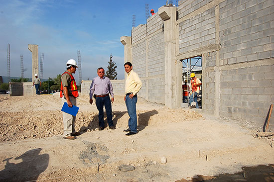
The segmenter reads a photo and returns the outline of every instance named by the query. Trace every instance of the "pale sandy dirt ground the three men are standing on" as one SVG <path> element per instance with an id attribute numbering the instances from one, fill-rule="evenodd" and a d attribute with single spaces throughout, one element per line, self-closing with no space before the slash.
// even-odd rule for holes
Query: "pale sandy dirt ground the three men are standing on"
<path id="1" fill-rule="evenodd" d="M 123 98 L 113 103 L 117 129 L 99 131 L 95 104 L 80 96 L 76 130 L 83 131 L 67 140 L 58 93 L 0 96 L 0 182 L 198 182 L 259 165 L 274 181 L 273 136 L 256 136 L 262 129 L 252 123 L 138 98 L 138 133 L 126 136 Z"/>

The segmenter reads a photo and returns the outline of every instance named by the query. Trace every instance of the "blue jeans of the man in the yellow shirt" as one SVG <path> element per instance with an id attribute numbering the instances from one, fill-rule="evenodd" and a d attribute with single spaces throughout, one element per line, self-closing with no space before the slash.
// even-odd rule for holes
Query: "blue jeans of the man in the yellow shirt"
<path id="1" fill-rule="evenodd" d="M 130 116 L 129 119 L 129 128 L 131 132 L 137 133 L 137 114 L 136 114 L 136 103 L 137 103 L 137 94 L 130 98 L 129 95 L 126 95 L 126 105 L 128 113 Z"/>

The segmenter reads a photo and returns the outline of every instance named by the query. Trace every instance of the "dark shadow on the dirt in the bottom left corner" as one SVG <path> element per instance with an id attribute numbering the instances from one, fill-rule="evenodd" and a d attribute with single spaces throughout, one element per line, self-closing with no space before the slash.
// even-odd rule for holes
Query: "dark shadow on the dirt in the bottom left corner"
<path id="1" fill-rule="evenodd" d="M 48 154 L 39 155 L 41 150 L 41 148 L 32 149 L 14 158 L 22 160 L 18 164 L 9 163 L 12 158 L 3 160 L 6 164 L 5 169 L 0 171 L 0 182 L 36 181 L 38 176 L 47 169 L 49 162 Z"/>

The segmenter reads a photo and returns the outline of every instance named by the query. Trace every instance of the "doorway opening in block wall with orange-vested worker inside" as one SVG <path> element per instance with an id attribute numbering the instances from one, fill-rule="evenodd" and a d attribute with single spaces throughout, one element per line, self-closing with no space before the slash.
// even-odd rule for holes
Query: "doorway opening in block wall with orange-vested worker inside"
<path id="1" fill-rule="evenodd" d="M 202 108 L 202 86 L 193 87 L 192 84 L 198 83 L 199 81 L 202 82 L 202 56 L 194 56 L 187 59 L 180 60 L 183 63 L 182 67 L 182 106 L 191 108 Z M 195 77 L 193 77 L 195 74 Z M 192 75 L 191 75 L 192 74 Z M 191 76 L 193 78 L 191 78 Z M 192 81 L 191 81 L 192 80 Z M 196 93 L 193 93 L 196 92 Z M 197 104 L 195 105 L 194 102 L 196 101 Z M 192 103 L 191 103 L 192 102 Z"/>

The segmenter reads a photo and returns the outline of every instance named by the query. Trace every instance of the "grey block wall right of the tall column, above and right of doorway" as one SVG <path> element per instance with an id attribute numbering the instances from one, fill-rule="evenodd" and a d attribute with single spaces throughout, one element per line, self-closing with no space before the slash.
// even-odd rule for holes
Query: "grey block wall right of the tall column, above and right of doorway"
<path id="1" fill-rule="evenodd" d="M 204 2 L 180 0 L 178 8 L 180 58 L 203 51 L 203 109 L 262 127 L 274 101 L 274 1 Z"/>

